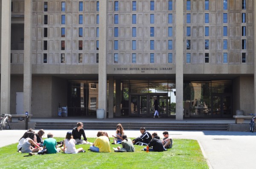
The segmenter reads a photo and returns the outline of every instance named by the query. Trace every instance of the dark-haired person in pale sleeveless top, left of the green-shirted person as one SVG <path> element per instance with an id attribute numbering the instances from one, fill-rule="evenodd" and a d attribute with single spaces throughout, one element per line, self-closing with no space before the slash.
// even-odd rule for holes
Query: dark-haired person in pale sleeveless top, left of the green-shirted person
<path id="1" fill-rule="evenodd" d="M 35 133 L 34 132 L 29 132 L 29 137 L 26 138 L 24 141 L 23 141 L 23 145 L 22 145 L 22 148 L 21 148 L 21 152 L 22 153 L 29 153 L 29 152 L 38 152 L 39 150 L 41 150 L 41 147 L 38 146 L 34 141 L 35 137 Z M 31 144 L 33 146 L 35 146 L 35 148 L 33 148 L 31 146 Z"/>

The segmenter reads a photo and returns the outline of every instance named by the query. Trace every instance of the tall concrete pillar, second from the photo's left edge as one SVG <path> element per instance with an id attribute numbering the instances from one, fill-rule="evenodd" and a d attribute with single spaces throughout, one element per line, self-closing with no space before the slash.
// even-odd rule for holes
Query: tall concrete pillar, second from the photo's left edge
<path id="1" fill-rule="evenodd" d="M 31 28 L 32 1 L 25 0 L 24 10 L 24 76 L 23 76 L 23 110 L 31 112 L 32 65 L 31 65 Z"/>

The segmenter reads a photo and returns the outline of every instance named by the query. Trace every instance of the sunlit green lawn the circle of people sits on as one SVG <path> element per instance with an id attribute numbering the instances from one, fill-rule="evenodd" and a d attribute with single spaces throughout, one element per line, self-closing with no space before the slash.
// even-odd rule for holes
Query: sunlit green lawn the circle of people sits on
<path id="1" fill-rule="evenodd" d="M 64 138 L 55 138 L 61 141 Z M 95 138 L 88 138 L 93 142 Z M 111 138 L 112 141 L 112 138 Z M 135 152 L 90 152 L 90 145 L 83 147 L 86 152 L 78 154 L 47 154 L 23 157 L 28 153 L 18 153 L 17 144 L 0 148 L 0 168 L 9 169 L 208 169 L 196 140 L 174 139 L 173 148 L 165 152 L 141 151 L 143 146 L 135 145 Z"/>

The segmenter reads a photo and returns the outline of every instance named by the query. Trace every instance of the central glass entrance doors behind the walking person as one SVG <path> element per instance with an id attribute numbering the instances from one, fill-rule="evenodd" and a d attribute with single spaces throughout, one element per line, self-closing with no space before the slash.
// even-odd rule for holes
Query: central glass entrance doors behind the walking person
<path id="1" fill-rule="evenodd" d="M 158 112 L 160 116 L 168 116 L 168 94 L 167 93 L 132 93 L 129 96 L 129 115 L 137 117 L 154 116 L 154 99 L 158 101 Z"/>

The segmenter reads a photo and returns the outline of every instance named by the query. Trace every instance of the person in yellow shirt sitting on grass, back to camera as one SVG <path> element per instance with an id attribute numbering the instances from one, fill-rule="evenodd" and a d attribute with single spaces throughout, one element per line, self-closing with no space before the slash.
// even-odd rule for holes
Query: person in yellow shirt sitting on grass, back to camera
<path id="1" fill-rule="evenodd" d="M 111 152 L 109 138 L 104 135 L 103 131 L 97 133 L 96 140 L 93 145 L 90 146 L 90 151 L 92 152 Z"/>

